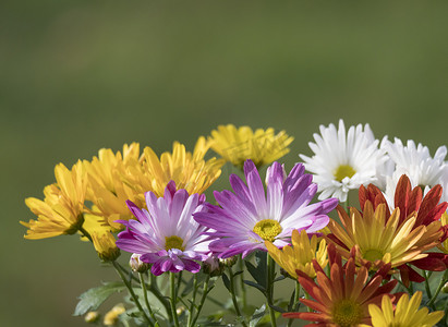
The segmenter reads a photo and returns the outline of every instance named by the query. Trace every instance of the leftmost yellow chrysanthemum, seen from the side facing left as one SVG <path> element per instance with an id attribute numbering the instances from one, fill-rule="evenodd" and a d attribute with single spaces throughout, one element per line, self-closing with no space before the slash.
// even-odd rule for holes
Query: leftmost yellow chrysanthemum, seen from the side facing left
<path id="1" fill-rule="evenodd" d="M 25 199 L 38 219 L 21 223 L 28 228 L 25 239 L 38 240 L 75 233 L 84 221 L 86 193 L 85 171 L 77 161 L 72 170 L 59 164 L 55 167 L 56 183 L 44 189 L 45 199 Z"/>

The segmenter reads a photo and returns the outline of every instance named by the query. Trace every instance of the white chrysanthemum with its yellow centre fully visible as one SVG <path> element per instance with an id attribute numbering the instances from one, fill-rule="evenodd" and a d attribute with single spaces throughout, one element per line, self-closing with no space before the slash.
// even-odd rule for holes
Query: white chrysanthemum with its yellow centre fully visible
<path id="1" fill-rule="evenodd" d="M 300 157 L 306 170 L 314 173 L 313 181 L 322 192 L 318 198 L 335 196 L 344 202 L 350 190 L 377 180 L 376 169 L 386 156 L 368 124 L 351 126 L 347 134 L 342 120 L 338 130 L 334 124 L 319 128 L 320 135 L 314 134 L 316 143 L 308 144 L 314 156 Z"/>

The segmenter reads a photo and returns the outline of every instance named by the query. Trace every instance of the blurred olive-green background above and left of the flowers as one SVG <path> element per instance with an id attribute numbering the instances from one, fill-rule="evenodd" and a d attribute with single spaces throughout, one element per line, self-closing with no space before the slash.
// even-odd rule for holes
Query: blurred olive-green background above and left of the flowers
<path id="1" fill-rule="evenodd" d="M 448 2 L 2 1 L 0 326 L 83 326 L 76 296 L 114 280 L 75 237 L 23 239 L 58 162 L 133 141 L 192 149 L 218 124 L 295 137 L 368 122 L 446 144 Z M 226 184 L 225 173 L 217 187 Z"/>

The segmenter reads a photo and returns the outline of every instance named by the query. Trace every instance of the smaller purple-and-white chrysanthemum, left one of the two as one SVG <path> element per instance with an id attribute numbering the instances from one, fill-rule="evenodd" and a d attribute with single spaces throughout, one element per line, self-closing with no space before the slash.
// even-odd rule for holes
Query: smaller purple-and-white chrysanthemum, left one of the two
<path id="1" fill-rule="evenodd" d="M 202 210 L 205 195 L 175 190 L 169 182 L 164 197 L 153 192 L 146 194 L 146 209 L 132 202 L 128 206 L 136 220 L 119 220 L 126 227 L 118 235 L 117 246 L 123 251 L 140 254 L 144 263 L 153 264 L 156 276 L 166 271 L 189 270 L 197 272 L 201 265 L 196 262 L 207 259 L 208 237 L 206 228 L 193 219 L 193 213 Z"/>

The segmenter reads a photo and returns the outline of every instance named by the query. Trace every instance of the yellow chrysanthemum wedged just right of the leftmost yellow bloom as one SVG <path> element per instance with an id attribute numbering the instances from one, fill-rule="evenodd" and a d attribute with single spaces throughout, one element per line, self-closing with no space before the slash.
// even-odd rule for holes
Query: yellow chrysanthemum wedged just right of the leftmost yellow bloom
<path id="1" fill-rule="evenodd" d="M 84 160 L 83 164 L 88 175 L 86 198 L 92 201 L 96 208 L 93 213 L 104 217 L 105 222 L 114 231 L 121 229 L 121 225 L 113 221 L 129 220 L 133 217 L 126 206 L 126 199 L 137 206 L 144 205 L 142 192 L 135 191 L 135 187 L 123 181 L 130 169 L 142 170 L 138 143 L 124 144 L 123 154 L 113 154 L 111 149 L 102 148 L 92 162 Z"/>

